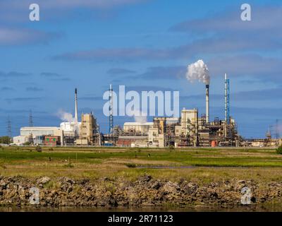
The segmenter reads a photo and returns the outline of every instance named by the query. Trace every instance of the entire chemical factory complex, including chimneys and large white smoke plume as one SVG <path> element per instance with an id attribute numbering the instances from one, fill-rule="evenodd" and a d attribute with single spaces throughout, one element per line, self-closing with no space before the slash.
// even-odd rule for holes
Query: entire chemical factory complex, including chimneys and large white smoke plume
<path id="1" fill-rule="evenodd" d="M 216 146 L 273 146 L 279 139 L 266 136 L 265 139 L 244 140 L 238 134 L 235 119 L 230 116 L 230 81 L 225 74 L 225 119 L 209 117 L 209 74 L 203 61 L 188 66 L 188 80 L 199 80 L 205 84 L 206 112 L 185 109 L 180 117 L 154 117 L 152 122 L 125 122 L 123 128 L 114 126 L 113 88 L 109 88 L 109 133 L 99 131 L 97 118 L 90 112 L 81 114 L 78 121 L 78 90 L 75 88 L 75 117 L 62 122 L 59 127 L 23 127 L 20 136 L 13 138 L 16 145 L 78 145 L 78 146 L 118 146 L 139 148 L 185 148 Z M 71 116 L 72 117 L 72 116 Z"/>

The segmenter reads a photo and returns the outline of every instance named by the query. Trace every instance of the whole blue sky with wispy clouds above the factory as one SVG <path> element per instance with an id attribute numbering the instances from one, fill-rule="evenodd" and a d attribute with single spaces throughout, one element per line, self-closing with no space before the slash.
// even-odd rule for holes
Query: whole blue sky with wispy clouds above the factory
<path id="1" fill-rule="evenodd" d="M 29 5 L 40 21 L 29 20 Z M 28 125 L 59 126 L 57 112 L 93 111 L 102 131 L 102 95 L 128 90 L 179 90 L 180 109 L 204 113 L 204 85 L 185 79 L 203 59 L 211 73 L 211 117 L 224 117 L 223 75 L 231 78 L 231 116 L 239 133 L 264 137 L 282 115 L 282 4 L 247 1 L 2 0 L 0 2 L 0 136 Z M 116 117 L 115 124 L 133 121 Z M 282 133 L 282 131 L 281 131 Z"/>

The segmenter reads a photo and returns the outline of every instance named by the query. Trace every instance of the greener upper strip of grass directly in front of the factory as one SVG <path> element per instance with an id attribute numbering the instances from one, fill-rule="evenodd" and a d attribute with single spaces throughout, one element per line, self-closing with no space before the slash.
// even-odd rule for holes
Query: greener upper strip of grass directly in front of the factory
<path id="1" fill-rule="evenodd" d="M 122 151 L 63 151 L 58 148 L 52 151 L 43 150 L 38 153 L 25 148 L 15 150 L 5 148 L 0 151 L 0 165 L 28 164 L 29 162 L 83 162 L 88 164 L 101 164 L 104 160 L 142 160 L 143 165 L 156 165 L 156 162 L 167 162 L 167 165 L 192 165 L 211 167 L 282 167 L 282 157 L 276 155 L 275 150 L 133 150 Z M 117 149 L 118 150 L 118 149 Z M 242 155 L 241 153 L 249 153 Z M 148 157 L 150 154 L 150 157 Z M 49 161 L 51 159 L 51 161 Z M 163 164 L 161 164 L 163 165 Z"/>

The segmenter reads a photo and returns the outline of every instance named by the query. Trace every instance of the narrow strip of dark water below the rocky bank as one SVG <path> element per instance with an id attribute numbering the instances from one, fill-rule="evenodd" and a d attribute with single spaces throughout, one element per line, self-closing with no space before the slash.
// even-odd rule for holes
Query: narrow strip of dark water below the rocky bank
<path id="1" fill-rule="evenodd" d="M 0 206 L 0 212 L 282 212 L 282 204 L 250 206 L 185 206 L 144 208 L 95 208 L 95 207 L 17 207 Z"/>

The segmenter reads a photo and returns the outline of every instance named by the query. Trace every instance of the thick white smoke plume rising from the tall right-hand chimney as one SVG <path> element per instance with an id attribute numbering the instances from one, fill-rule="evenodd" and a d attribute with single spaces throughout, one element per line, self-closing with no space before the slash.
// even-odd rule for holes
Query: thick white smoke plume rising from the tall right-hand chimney
<path id="1" fill-rule="evenodd" d="M 190 64 L 188 66 L 188 71 L 186 73 L 186 78 L 191 83 L 195 80 L 200 81 L 206 85 L 209 85 L 209 69 L 207 68 L 207 65 L 204 64 L 204 61 L 202 59 L 198 60 L 194 64 Z"/>

